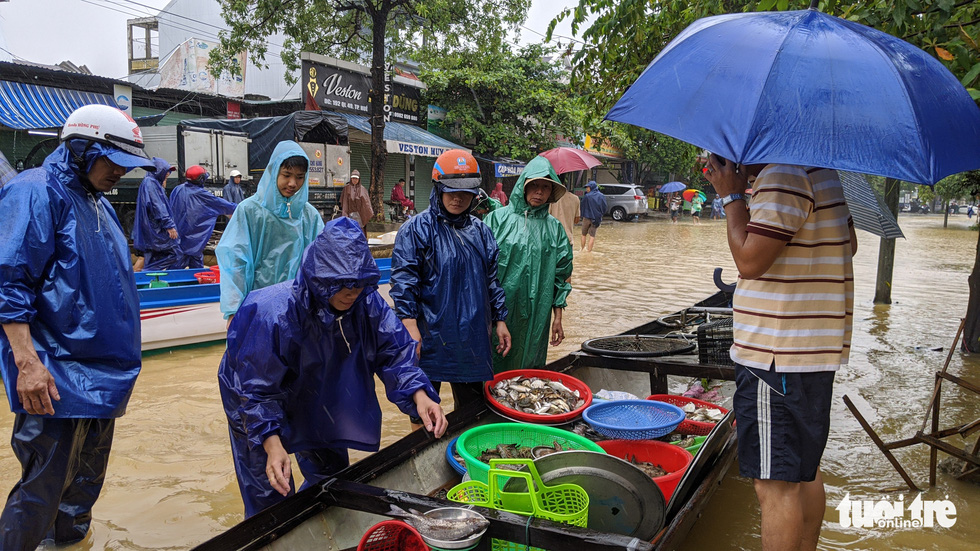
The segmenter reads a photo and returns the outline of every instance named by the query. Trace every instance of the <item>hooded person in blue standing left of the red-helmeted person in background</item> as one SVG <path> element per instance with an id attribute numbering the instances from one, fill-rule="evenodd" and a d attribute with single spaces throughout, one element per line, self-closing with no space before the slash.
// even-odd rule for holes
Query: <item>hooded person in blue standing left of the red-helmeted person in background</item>
<path id="1" fill-rule="evenodd" d="M 170 202 L 167 176 L 174 168 L 160 157 L 153 157 L 155 170 L 147 172 L 136 196 L 133 247 L 143 252 L 143 270 L 172 270 L 180 259 L 180 241 Z"/>

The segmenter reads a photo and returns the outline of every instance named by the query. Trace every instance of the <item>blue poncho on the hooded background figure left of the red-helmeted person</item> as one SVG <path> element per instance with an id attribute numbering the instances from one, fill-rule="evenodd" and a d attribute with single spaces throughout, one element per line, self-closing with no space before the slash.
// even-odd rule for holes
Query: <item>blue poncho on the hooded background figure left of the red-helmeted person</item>
<path id="1" fill-rule="evenodd" d="M 169 251 L 180 242 L 170 239 L 167 230 L 176 228 L 163 181 L 170 173 L 170 163 L 153 158 L 156 170 L 147 173 L 136 197 L 136 221 L 133 224 L 133 247 L 138 251 Z"/>

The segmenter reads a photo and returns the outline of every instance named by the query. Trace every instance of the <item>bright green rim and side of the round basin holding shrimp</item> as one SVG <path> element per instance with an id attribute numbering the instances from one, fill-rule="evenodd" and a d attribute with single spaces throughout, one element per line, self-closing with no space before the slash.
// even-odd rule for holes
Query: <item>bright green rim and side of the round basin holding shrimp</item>
<path id="1" fill-rule="evenodd" d="M 517 444 L 521 447 L 551 446 L 554 443 L 565 450 L 587 450 L 606 453 L 598 444 L 574 432 L 524 423 L 494 423 L 474 427 L 460 435 L 456 452 L 466 463 L 470 478 L 489 484 L 490 466 L 477 459 L 484 450 L 498 444 Z"/>

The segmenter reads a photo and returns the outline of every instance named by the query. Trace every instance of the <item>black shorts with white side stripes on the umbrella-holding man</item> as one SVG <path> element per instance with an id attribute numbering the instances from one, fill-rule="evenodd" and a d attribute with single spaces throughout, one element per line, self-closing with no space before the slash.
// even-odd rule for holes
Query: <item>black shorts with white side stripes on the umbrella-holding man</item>
<path id="1" fill-rule="evenodd" d="M 746 478 L 810 482 L 830 433 L 834 372 L 777 373 L 735 365 L 738 471 Z"/>

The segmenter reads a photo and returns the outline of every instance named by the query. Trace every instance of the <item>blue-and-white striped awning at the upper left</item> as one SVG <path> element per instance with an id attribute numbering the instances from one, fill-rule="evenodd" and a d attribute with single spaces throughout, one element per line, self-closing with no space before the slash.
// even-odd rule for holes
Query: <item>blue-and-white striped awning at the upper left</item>
<path id="1" fill-rule="evenodd" d="M 0 80 L 0 124 L 15 130 L 61 128 L 75 109 L 93 103 L 116 107 L 107 94 Z"/>

